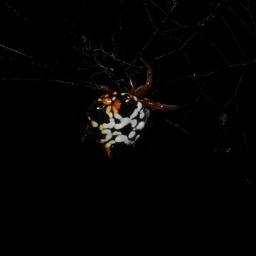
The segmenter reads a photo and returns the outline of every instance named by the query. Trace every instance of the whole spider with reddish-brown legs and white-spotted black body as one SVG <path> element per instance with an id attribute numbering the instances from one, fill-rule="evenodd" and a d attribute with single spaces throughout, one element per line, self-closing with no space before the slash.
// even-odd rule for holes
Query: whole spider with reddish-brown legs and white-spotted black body
<path id="1" fill-rule="evenodd" d="M 131 76 L 127 73 L 131 87 L 129 92 L 113 91 L 107 85 L 93 84 L 106 93 L 88 108 L 88 125 L 84 129 L 82 141 L 93 138 L 104 147 L 110 158 L 120 156 L 136 145 L 148 122 L 150 108 L 172 111 L 181 108 L 139 98 L 150 88 L 153 75 L 150 65 L 142 58 L 140 60 L 147 67 L 147 82 L 143 86 L 135 88 Z"/>

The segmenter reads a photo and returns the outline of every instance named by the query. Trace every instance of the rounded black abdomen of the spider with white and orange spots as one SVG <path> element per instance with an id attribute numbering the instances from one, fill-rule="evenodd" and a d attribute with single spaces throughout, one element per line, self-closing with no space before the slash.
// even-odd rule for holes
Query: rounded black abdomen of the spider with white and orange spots
<path id="1" fill-rule="evenodd" d="M 88 111 L 88 127 L 109 157 L 134 147 L 149 116 L 149 109 L 134 95 L 111 92 L 93 102 Z"/>

